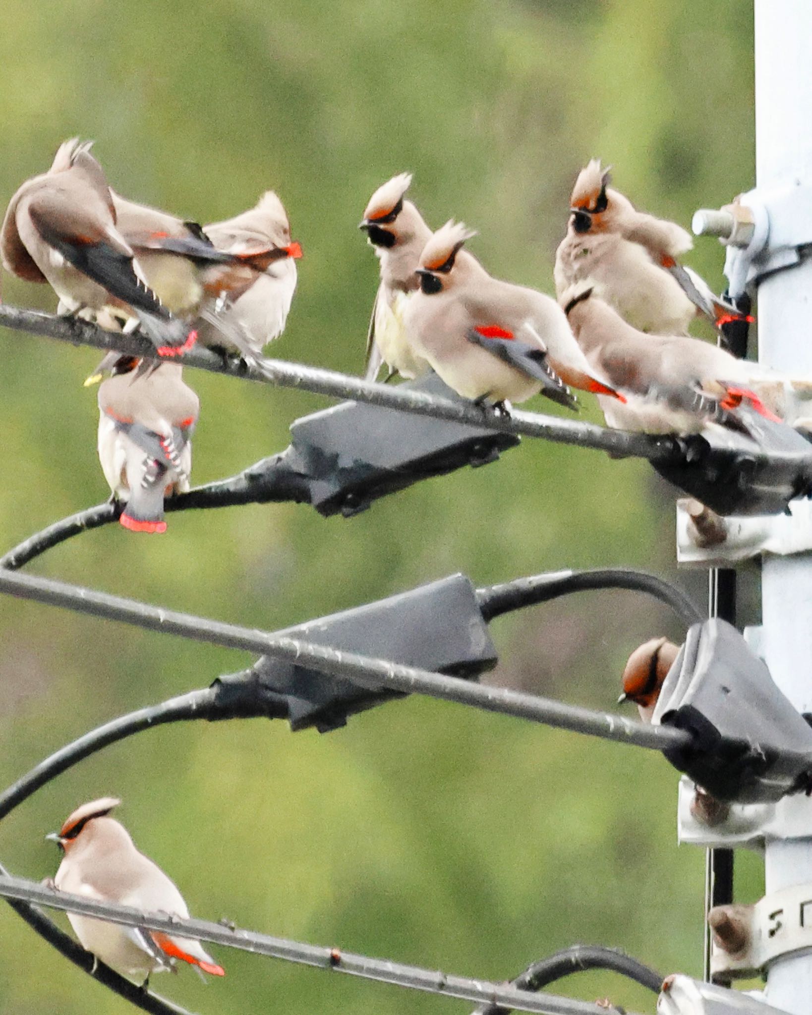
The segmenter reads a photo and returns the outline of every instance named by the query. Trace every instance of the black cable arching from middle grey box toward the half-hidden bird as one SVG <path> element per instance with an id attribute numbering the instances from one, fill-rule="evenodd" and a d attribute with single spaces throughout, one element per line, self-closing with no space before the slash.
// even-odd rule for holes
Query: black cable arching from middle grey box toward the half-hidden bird
<path id="1" fill-rule="evenodd" d="M 545 603 L 570 592 L 593 589 L 629 589 L 645 592 L 670 606 L 686 627 L 704 619 L 697 607 L 676 586 L 646 571 L 625 567 L 600 567 L 592 570 L 563 570 L 531 578 L 520 578 L 502 585 L 477 590 L 477 604 L 485 620 L 525 606 Z"/>

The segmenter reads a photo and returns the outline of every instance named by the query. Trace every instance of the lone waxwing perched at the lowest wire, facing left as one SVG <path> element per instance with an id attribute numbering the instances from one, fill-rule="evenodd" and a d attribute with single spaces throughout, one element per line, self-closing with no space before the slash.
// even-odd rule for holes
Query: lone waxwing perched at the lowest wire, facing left
<path id="1" fill-rule="evenodd" d="M 121 803 L 115 797 L 78 807 L 58 832 L 46 838 L 63 852 L 54 886 L 101 902 L 129 905 L 144 912 L 189 919 L 189 909 L 175 883 L 135 848 L 127 829 L 109 817 Z M 144 984 L 153 972 L 176 971 L 188 962 L 213 976 L 224 976 L 199 941 L 141 927 L 125 927 L 69 912 L 68 920 L 82 947 L 125 976 Z"/>

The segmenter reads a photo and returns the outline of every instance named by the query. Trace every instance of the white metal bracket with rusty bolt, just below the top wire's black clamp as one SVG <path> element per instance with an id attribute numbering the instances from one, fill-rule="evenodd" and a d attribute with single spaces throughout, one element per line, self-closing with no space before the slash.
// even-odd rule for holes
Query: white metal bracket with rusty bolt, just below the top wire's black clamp
<path id="1" fill-rule="evenodd" d="M 723 518 L 693 497 L 677 500 L 677 562 L 729 567 L 762 553 L 789 556 L 812 550 L 812 501 L 793 500 L 784 515 Z"/>

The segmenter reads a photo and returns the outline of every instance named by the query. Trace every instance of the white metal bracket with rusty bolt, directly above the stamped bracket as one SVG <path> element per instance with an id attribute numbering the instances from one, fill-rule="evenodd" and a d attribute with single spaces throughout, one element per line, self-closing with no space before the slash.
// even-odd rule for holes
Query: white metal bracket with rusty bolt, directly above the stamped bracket
<path id="1" fill-rule="evenodd" d="M 695 784 L 683 775 L 677 800 L 680 844 L 760 853 L 768 839 L 808 838 L 812 828 L 812 798 L 800 793 L 775 803 L 720 805 L 709 819 L 706 813 L 697 807 Z"/>

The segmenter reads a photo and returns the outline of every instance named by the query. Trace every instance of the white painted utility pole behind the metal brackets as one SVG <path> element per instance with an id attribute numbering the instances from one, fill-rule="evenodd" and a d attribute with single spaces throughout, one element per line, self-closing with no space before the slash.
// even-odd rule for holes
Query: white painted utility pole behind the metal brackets
<path id="1" fill-rule="evenodd" d="M 755 0 L 756 186 L 812 187 L 812 0 Z M 812 216 L 807 216 L 812 217 Z M 758 290 L 759 359 L 812 375 L 812 260 L 766 278 Z M 762 570 L 766 662 L 801 712 L 812 710 L 812 557 L 767 557 Z M 810 837 L 771 841 L 766 893 L 812 884 Z M 812 1012 L 812 955 L 776 962 L 769 1004 Z"/>

